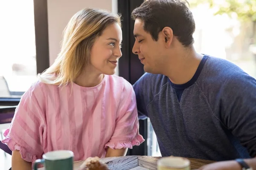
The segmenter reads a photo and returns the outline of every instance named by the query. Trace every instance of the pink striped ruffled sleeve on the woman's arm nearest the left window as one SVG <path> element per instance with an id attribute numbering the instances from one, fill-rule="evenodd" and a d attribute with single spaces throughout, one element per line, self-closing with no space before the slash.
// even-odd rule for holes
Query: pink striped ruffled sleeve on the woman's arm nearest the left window
<path id="1" fill-rule="evenodd" d="M 32 88 L 26 91 L 16 108 L 10 127 L 4 132 L 3 144 L 19 150 L 22 159 L 34 162 L 43 155 L 44 113 Z"/>

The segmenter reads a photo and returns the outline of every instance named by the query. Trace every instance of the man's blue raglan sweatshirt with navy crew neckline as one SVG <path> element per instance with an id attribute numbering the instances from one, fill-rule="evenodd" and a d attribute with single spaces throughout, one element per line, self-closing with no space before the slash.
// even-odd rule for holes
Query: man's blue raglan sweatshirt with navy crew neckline
<path id="1" fill-rule="evenodd" d="M 162 156 L 256 156 L 256 80 L 233 63 L 205 55 L 189 82 L 146 73 L 134 91 L 139 117 L 150 118 Z"/>

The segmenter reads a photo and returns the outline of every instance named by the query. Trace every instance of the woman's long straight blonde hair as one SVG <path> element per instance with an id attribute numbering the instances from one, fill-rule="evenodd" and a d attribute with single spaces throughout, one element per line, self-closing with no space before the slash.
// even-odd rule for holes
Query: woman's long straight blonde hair
<path id="1" fill-rule="evenodd" d="M 73 15 L 64 29 L 58 57 L 38 74 L 39 81 L 59 86 L 74 82 L 88 65 L 95 40 L 112 23 L 121 26 L 120 15 L 101 9 L 85 8 Z"/>

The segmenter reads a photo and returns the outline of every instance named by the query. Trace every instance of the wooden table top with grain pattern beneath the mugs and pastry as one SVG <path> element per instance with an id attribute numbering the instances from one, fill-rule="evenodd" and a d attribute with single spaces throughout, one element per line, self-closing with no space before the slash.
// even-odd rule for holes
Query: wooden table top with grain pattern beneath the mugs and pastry
<path id="1" fill-rule="evenodd" d="M 101 160 L 108 165 L 110 170 L 157 170 L 157 160 L 161 157 L 152 156 L 121 156 L 121 157 L 110 157 L 102 158 Z M 212 163 L 214 161 L 204 159 L 188 158 L 192 170 L 198 169 L 199 167 Z M 84 161 L 74 162 L 74 170 L 78 170 L 79 166 Z"/>

